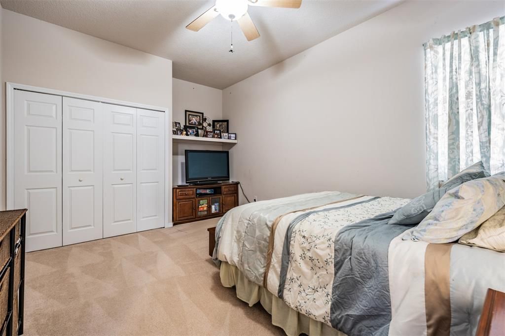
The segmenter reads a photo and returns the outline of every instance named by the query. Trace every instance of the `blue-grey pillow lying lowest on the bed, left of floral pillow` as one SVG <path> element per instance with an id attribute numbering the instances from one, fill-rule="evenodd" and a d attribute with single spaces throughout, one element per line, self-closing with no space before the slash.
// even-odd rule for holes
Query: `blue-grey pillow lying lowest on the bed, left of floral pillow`
<path id="1" fill-rule="evenodd" d="M 440 198 L 451 188 L 440 188 L 411 200 L 396 210 L 388 224 L 412 225 L 419 224 L 433 209 Z"/>

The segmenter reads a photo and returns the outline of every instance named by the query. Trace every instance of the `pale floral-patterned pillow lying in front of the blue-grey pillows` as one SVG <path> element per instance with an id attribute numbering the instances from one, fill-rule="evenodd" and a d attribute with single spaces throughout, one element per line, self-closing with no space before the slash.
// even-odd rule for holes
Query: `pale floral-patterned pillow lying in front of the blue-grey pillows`
<path id="1" fill-rule="evenodd" d="M 433 210 L 403 240 L 443 244 L 474 230 L 505 205 L 505 172 L 472 180 L 442 196 Z"/>

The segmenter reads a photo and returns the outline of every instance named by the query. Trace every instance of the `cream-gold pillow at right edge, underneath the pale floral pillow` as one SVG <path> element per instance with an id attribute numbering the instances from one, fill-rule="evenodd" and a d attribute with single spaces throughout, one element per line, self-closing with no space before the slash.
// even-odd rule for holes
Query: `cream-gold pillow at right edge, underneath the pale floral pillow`
<path id="1" fill-rule="evenodd" d="M 461 237 L 458 243 L 505 252 L 505 206 L 480 227 Z"/>

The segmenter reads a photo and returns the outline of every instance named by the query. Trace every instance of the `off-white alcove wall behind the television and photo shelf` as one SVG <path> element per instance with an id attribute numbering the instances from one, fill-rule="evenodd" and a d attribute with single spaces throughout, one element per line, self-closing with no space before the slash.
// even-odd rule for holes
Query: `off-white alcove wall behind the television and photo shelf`
<path id="1" fill-rule="evenodd" d="M 223 117 L 223 91 L 209 86 L 173 79 L 174 121 L 184 127 L 185 110 L 204 113 L 212 120 Z M 172 146 L 172 182 L 174 185 L 185 183 L 184 150 L 223 150 L 221 145 L 196 145 L 174 142 Z"/>

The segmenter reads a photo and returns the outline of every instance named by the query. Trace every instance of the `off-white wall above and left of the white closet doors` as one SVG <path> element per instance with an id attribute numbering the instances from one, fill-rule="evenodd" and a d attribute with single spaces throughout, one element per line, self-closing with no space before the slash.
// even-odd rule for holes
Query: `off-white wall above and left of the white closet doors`
<path id="1" fill-rule="evenodd" d="M 172 61 L 2 10 L 2 90 L 15 82 L 172 107 Z M 5 139 L 5 107 L 0 132 Z M 5 208 L 5 142 L 2 145 Z"/>

